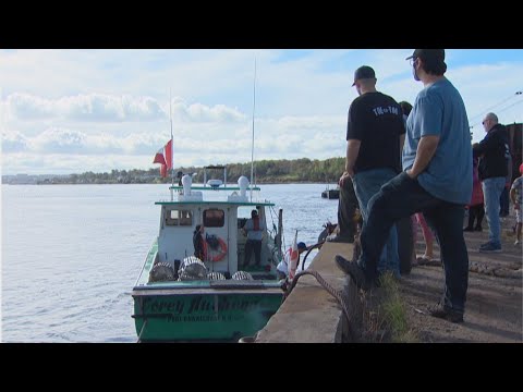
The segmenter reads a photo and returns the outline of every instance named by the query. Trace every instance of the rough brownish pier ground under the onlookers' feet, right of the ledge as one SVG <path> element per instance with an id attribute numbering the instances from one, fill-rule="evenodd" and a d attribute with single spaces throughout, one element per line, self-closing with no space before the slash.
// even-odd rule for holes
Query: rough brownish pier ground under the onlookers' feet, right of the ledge
<path id="1" fill-rule="evenodd" d="M 512 216 L 513 217 L 513 216 Z M 466 222 L 464 222 L 466 224 Z M 487 223 L 483 232 L 465 233 L 469 250 L 469 290 L 463 323 L 430 317 L 426 307 L 436 304 L 443 291 L 441 266 L 417 266 L 402 278 L 400 291 L 406 305 L 409 326 L 425 343 L 523 343 L 522 247 L 514 246 L 513 218 L 502 221 L 502 252 L 479 253 L 488 241 Z M 423 254 L 422 235 L 417 253 Z M 435 244 L 435 256 L 439 248 Z"/>

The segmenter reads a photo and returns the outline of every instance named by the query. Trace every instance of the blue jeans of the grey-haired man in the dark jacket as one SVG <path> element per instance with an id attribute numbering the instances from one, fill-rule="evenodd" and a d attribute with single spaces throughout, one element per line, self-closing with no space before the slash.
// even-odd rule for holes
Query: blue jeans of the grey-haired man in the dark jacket
<path id="1" fill-rule="evenodd" d="M 504 188 L 504 176 L 483 180 L 485 215 L 488 222 L 488 242 L 501 246 L 501 224 L 499 223 L 499 198 Z"/>

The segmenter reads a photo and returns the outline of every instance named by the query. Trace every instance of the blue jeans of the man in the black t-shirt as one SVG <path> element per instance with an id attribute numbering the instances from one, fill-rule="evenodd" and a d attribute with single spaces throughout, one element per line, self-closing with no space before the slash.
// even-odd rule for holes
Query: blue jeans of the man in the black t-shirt
<path id="1" fill-rule="evenodd" d="M 381 168 L 358 172 L 354 175 L 354 192 L 362 209 L 363 221 L 368 217 L 368 200 L 379 192 L 381 185 L 393 179 L 397 173 L 392 169 Z M 378 262 L 378 271 L 391 271 L 400 278 L 400 257 L 398 255 L 398 231 L 396 225 L 390 229 Z"/>

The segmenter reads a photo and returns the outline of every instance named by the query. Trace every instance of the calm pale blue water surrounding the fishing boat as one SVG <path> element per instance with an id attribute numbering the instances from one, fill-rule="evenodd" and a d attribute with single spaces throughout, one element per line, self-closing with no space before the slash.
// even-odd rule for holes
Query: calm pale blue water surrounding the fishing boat
<path id="1" fill-rule="evenodd" d="M 260 187 L 288 246 L 337 221 L 325 184 Z M 166 185 L 2 185 L 2 341 L 135 342 L 131 290 L 168 197 Z"/>

